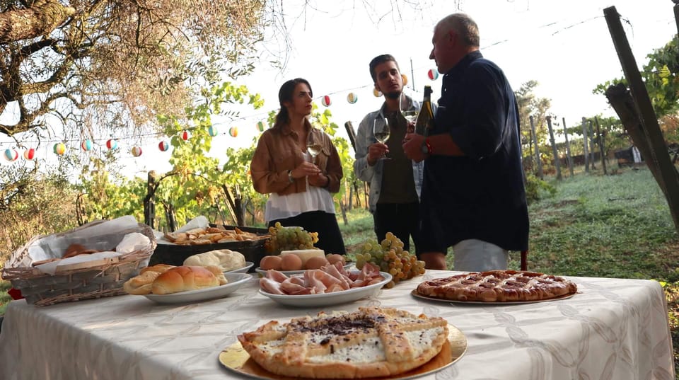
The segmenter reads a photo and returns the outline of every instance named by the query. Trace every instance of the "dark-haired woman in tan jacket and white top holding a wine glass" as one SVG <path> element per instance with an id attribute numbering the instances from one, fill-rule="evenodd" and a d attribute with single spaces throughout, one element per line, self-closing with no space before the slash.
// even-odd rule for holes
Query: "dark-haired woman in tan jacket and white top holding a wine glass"
<path id="1" fill-rule="evenodd" d="M 250 163 L 255 191 L 269 194 L 265 219 L 269 226 L 300 226 L 318 232 L 316 247 L 346 253 L 335 217 L 332 192 L 340 190 L 342 163 L 325 132 L 311 127 L 313 93 L 305 79 L 286 81 L 278 93 L 276 122 L 257 142 Z M 315 159 L 307 151 L 309 135 L 321 143 Z"/>

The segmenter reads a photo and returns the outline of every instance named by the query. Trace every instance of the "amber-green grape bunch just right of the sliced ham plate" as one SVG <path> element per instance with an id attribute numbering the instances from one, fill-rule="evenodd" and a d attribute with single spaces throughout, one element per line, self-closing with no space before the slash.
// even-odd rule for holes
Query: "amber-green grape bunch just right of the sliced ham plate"
<path id="1" fill-rule="evenodd" d="M 393 279 L 385 285 L 388 288 L 394 287 L 400 280 L 424 275 L 424 261 L 403 251 L 403 242 L 391 232 L 386 234 L 382 243 L 377 240 L 366 241 L 361 246 L 361 251 L 354 254 L 354 258 L 359 270 L 366 263 L 372 263 L 380 267 L 382 272 L 389 272 Z"/>

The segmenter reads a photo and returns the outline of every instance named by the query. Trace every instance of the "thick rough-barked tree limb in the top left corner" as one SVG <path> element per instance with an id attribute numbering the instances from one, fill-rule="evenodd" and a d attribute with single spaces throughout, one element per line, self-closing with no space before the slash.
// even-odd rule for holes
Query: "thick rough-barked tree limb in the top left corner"
<path id="1" fill-rule="evenodd" d="M 49 35 L 74 13 L 75 8 L 52 0 L 38 0 L 30 8 L 1 12 L 0 43 Z"/>

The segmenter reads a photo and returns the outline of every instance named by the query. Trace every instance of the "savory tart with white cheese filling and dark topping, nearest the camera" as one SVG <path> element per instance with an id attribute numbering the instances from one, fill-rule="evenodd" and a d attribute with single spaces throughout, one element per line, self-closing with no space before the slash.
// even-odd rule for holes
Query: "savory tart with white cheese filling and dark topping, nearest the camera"
<path id="1" fill-rule="evenodd" d="M 250 357 L 267 371 L 315 379 L 407 372 L 438 355 L 447 338 L 443 318 L 374 307 L 353 313 L 322 311 L 284 324 L 270 321 L 238 335 Z"/>

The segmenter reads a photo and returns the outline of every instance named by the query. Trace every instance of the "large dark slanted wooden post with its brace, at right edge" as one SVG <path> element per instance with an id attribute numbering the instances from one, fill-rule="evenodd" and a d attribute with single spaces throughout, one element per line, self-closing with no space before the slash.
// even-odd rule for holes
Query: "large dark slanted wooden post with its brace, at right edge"
<path id="1" fill-rule="evenodd" d="M 629 86 L 629 91 L 622 84 L 610 86 L 606 97 L 663 190 L 675 229 L 679 231 L 679 173 L 670 159 L 651 98 L 622 29 L 620 14 L 615 6 L 605 8 L 603 13 Z"/>

